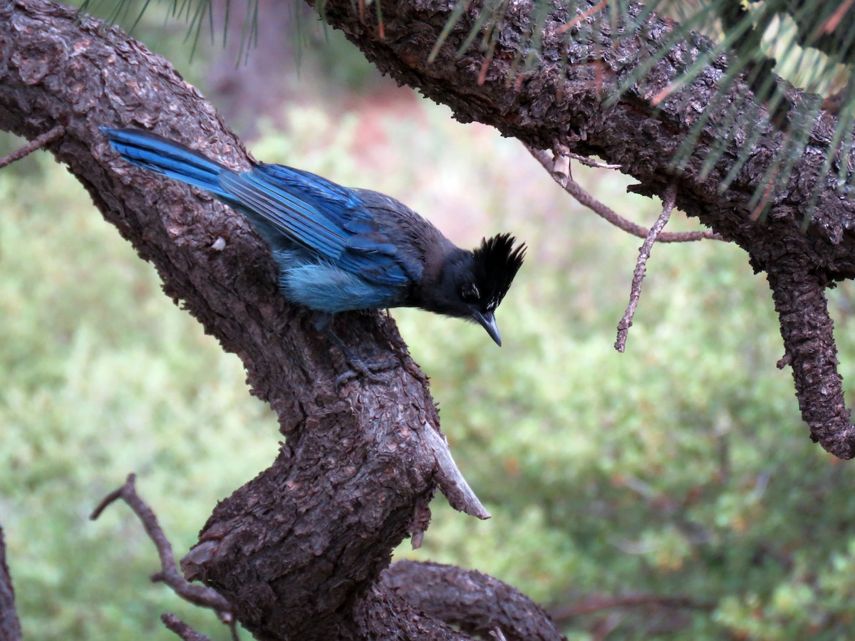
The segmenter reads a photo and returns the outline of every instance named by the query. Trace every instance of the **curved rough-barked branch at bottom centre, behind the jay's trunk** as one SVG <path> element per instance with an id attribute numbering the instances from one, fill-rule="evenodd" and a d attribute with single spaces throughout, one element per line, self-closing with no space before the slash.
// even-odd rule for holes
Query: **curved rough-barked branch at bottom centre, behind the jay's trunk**
<path id="1" fill-rule="evenodd" d="M 416 609 L 484 638 L 496 629 L 509 640 L 563 638 L 537 603 L 510 585 L 475 570 L 398 561 L 380 578 L 382 585 Z"/>

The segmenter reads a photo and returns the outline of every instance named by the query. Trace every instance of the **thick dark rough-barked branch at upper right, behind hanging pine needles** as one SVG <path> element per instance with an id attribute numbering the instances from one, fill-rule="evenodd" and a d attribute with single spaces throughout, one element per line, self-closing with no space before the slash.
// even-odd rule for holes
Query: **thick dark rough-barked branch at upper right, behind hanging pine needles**
<path id="1" fill-rule="evenodd" d="M 361 17 L 350 0 L 326 0 L 323 15 L 378 68 L 449 105 L 457 120 L 495 126 L 532 149 L 563 147 L 570 153 L 603 158 L 637 179 L 639 185 L 633 191 L 646 196 L 663 193 L 676 180 L 676 206 L 739 244 L 755 269 L 774 273 L 774 278 L 812 274 L 817 283 L 827 285 L 855 277 L 855 203 L 837 191 L 838 181 L 847 179 L 846 168 L 855 164 L 855 150 L 851 157 L 840 158 L 831 172 L 823 168 L 824 151 L 836 127 L 834 115 L 822 114 L 809 123 L 813 128 L 805 152 L 794 164 L 788 184 L 773 189 L 768 176 L 775 173 L 786 135 L 771 123 L 764 104 L 753 101 L 750 87 L 741 79 L 722 83 L 726 56 L 718 56 L 693 84 L 672 91 L 681 86 L 674 81 L 682 70 L 711 49 L 705 38 L 695 34 L 670 49 L 606 106 L 604 98 L 616 96 L 622 79 L 633 77 L 661 48 L 672 22 L 649 15 L 639 28 L 613 33 L 610 3 L 583 0 L 556 2 L 541 24 L 536 23 L 538 14 L 531 0 L 522 0 L 501 5 L 504 14 L 493 16 L 501 22 L 498 35 L 485 42 L 482 34 L 468 39 L 469 32 L 482 12 L 494 10 L 494 5 L 476 0 L 466 5 L 443 44 L 435 47 L 459 5 L 444 0 L 382 0 L 380 4 L 382 37 L 376 15 Z M 630 4 L 629 9 L 633 16 L 640 14 L 638 4 Z M 533 50 L 538 52 L 537 63 L 527 66 L 523 61 Z M 655 97 L 663 98 L 654 105 Z M 789 91 L 789 98 L 798 107 L 806 97 Z M 730 147 L 712 168 L 706 168 L 705 152 L 720 139 L 719 125 L 729 117 L 732 105 L 742 109 L 728 139 Z M 675 176 L 672 159 L 697 123 L 701 123 L 698 144 L 682 173 Z M 735 159 L 744 156 L 737 148 L 746 144 L 752 144 L 750 160 L 735 172 L 728 189 L 720 191 Z M 752 203 L 752 195 L 758 192 L 766 194 L 769 212 L 759 218 Z M 806 229 L 805 220 L 811 221 Z M 798 273 L 787 273 L 790 269 Z M 816 312 L 791 309 L 787 321 L 782 320 L 790 326 L 784 331 L 798 327 L 810 333 Z M 830 326 L 830 320 L 825 324 Z M 834 351 L 833 342 L 826 346 Z M 802 354 L 794 352 L 793 358 Z M 811 367 L 809 362 L 805 365 Z M 798 391 L 800 398 L 821 397 L 823 389 L 839 387 L 833 360 L 826 359 L 817 376 L 802 377 L 799 385 L 805 385 Z M 816 433 L 819 417 L 806 415 L 804 403 L 802 411 Z M 826 447 L 834 444 L 831 451 L 837 456 L 849 456 L 855 447 L 855 434 L 843 420 L 847 413 L 842 406 L 834 415 L 823 413 L 831 422 L 822 428 L 829 432 L 828 438 L 820 442 Z"/>

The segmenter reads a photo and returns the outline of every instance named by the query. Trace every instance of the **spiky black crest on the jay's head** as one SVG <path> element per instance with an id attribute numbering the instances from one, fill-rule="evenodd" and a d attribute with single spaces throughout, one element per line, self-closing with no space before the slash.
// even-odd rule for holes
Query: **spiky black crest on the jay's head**
<path id="1" fill-rule="evenodd" d="M 500 233 L 492 238 L 481 240 L 481 246 L 472 254 L 475 256 L 475 282 L 464 292 L 477 298 L 486 311 L 494 311 L 508 293 L 514 276 L 522 267 L 526 255 L 525 244 L 514 247 L 516 238 L 509 233 Z"/>

